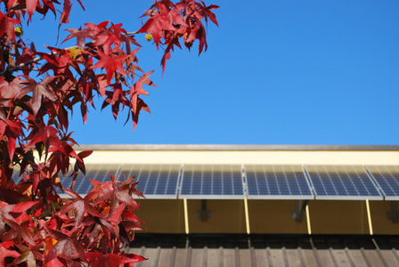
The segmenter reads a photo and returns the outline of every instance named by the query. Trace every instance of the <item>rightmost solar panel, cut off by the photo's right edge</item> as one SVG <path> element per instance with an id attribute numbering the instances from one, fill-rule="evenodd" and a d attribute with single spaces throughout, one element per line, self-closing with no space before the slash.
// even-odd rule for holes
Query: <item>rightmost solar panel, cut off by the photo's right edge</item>
<path id="1" fill-rule="evenodd" d="M 386 200 L 399 200 L 399 166 L 366 166 Z"/>

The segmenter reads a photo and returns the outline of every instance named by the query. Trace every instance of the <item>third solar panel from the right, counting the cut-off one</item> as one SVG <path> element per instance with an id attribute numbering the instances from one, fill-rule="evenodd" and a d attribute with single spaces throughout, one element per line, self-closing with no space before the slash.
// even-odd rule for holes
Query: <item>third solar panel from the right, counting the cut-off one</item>
<path id="1" fill-rule="evenodd" d="M 248 199 L 313 199 L 301 166 L 246 165 Z"/>

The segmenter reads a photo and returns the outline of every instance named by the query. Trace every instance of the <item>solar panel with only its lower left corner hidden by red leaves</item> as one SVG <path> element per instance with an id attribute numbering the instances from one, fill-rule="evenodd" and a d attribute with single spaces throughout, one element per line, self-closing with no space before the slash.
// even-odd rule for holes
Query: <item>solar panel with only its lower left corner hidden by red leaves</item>
<path id="1" fill-rule="evenodd" d="M 137 189 L 145 198 L 177 198 L 179 165 L 124 165 L 123 174 L 136 176 Z"/>

